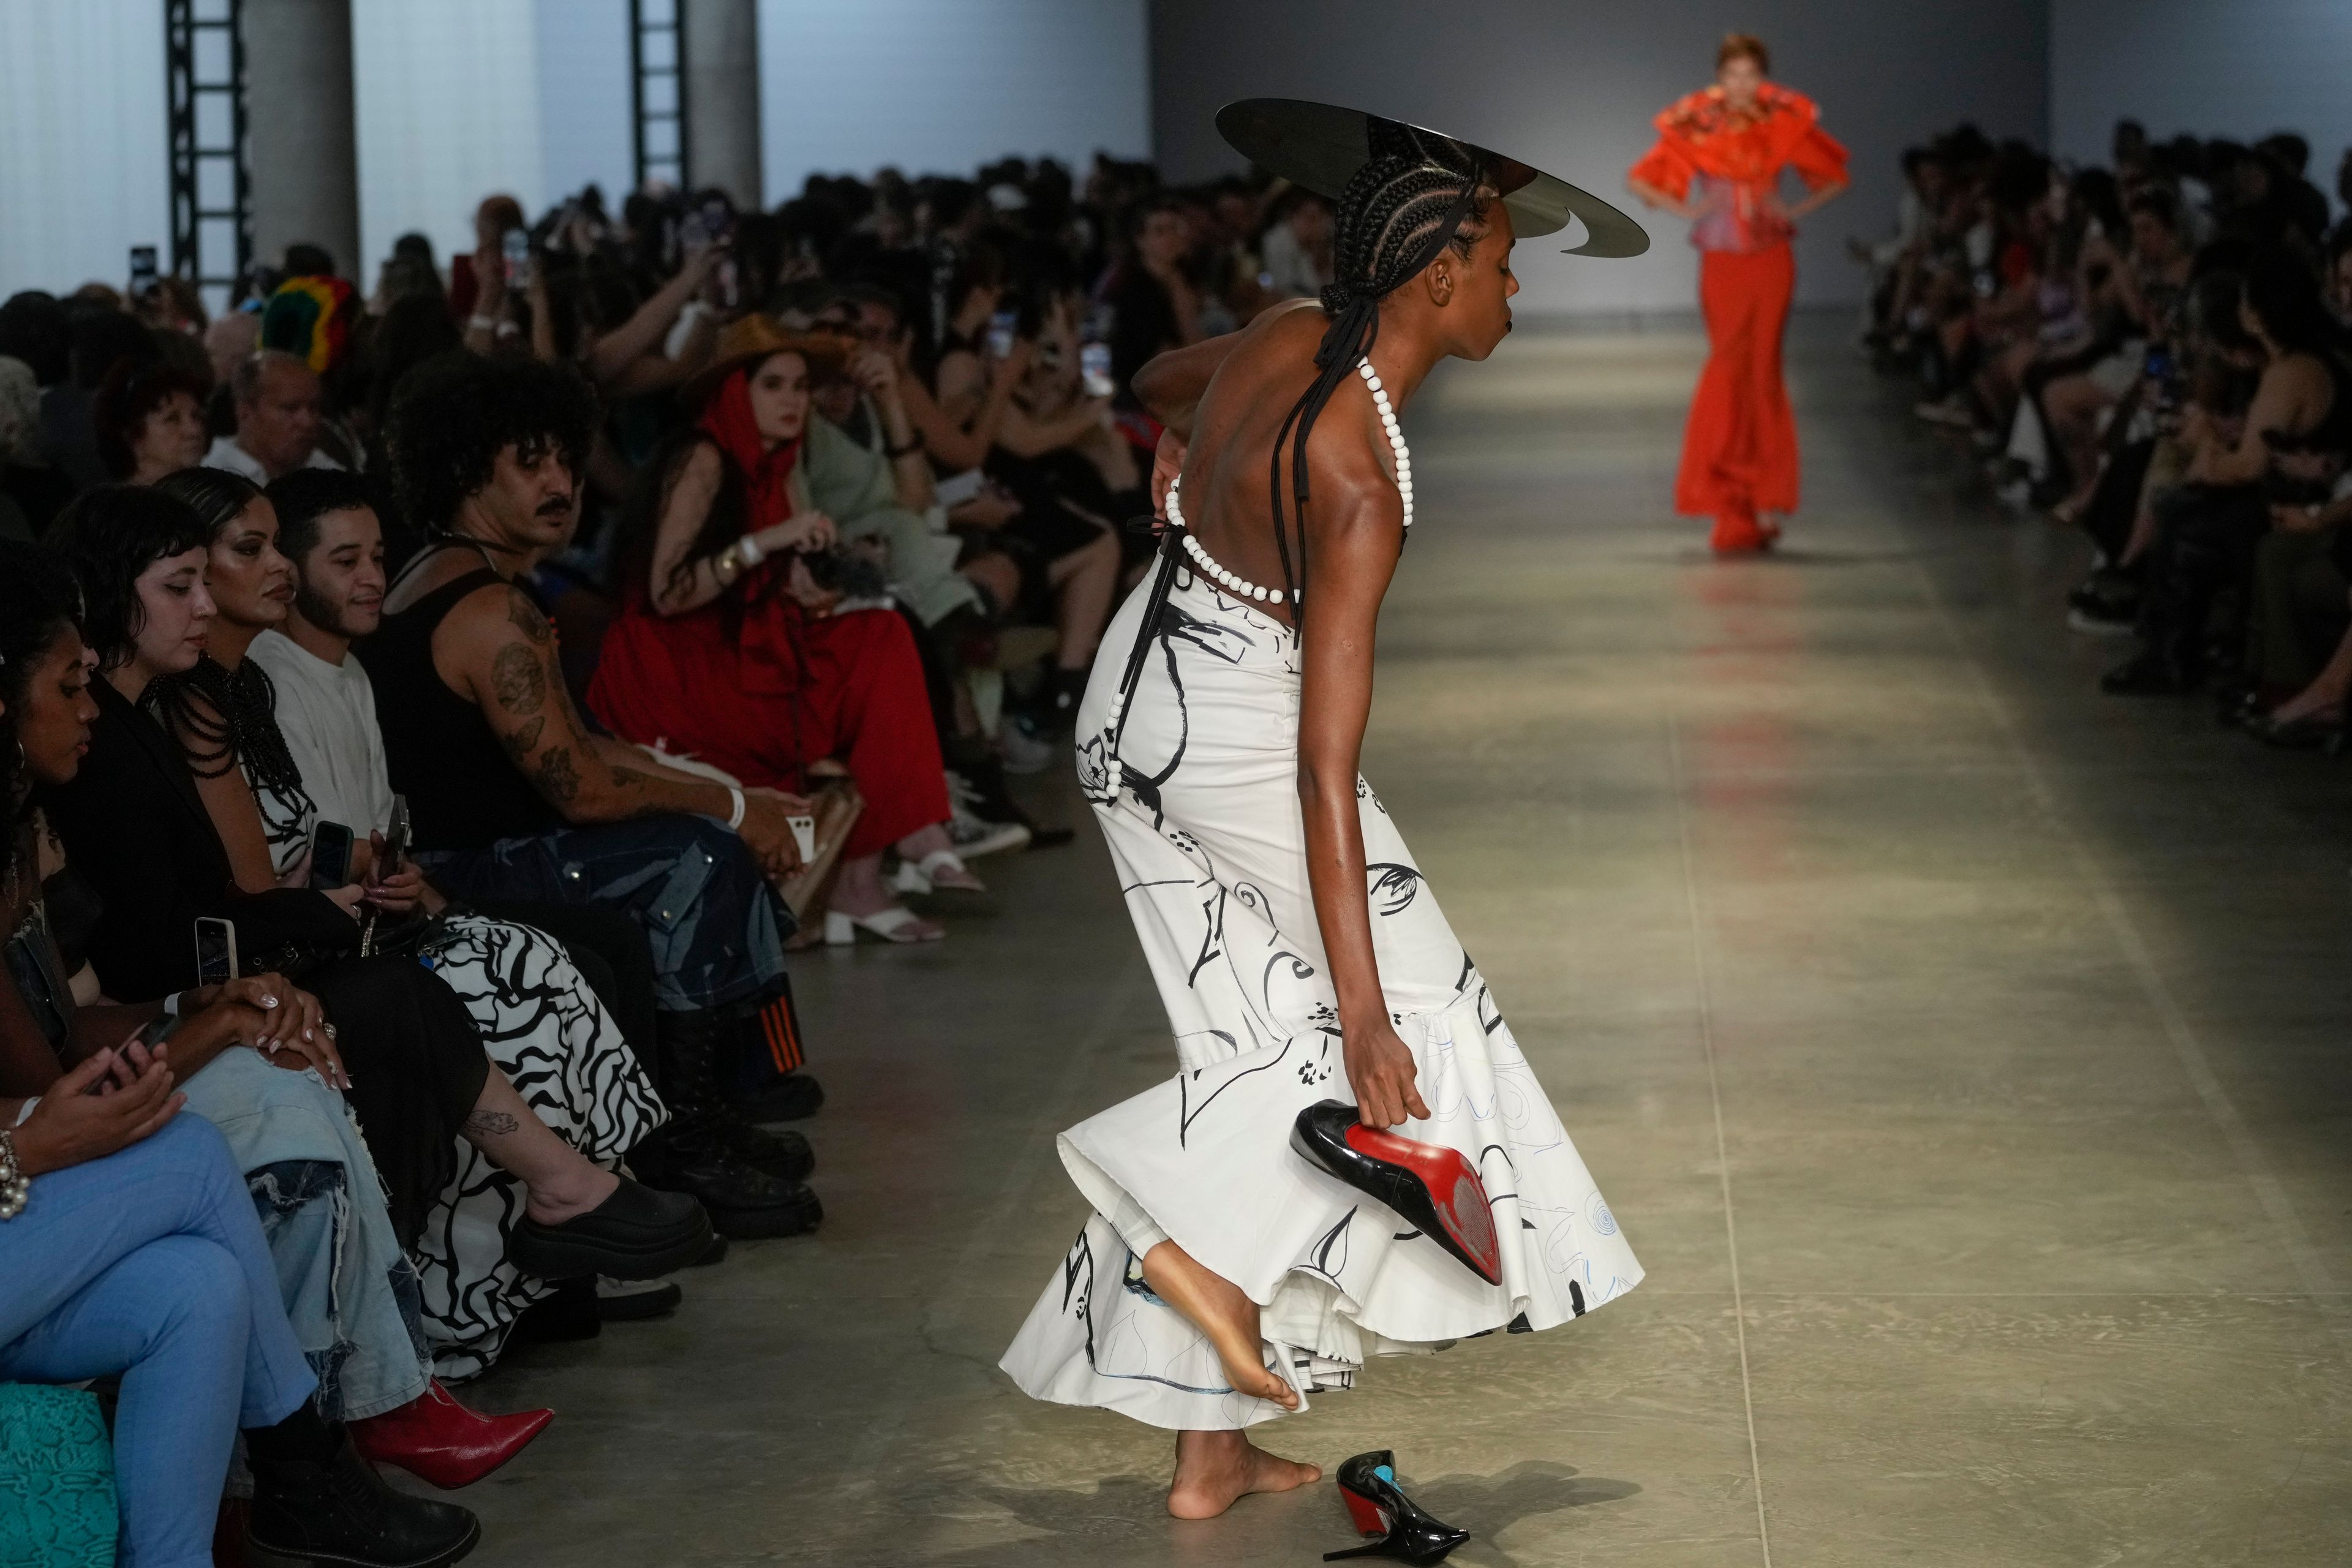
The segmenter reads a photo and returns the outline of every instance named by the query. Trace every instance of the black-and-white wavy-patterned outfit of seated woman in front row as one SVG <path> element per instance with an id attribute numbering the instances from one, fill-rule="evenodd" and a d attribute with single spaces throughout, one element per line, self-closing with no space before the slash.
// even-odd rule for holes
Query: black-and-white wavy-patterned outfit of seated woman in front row
<path id="1" fill-rule="evenodd" d="M 318 811 L 299 790 L 270 790 L 252 773 L 247 783 L 282 877 L 310 846 Z M 524 1105 L 590 1161 L 621 1164 L 640 1138 L 668 1121 L 621 1025 L 553 936 L 456 914 L 442 922 L 419 961 L 466 1004 L 489 1060 Z M 506 1260 L 506 1239 L 527 1197 L 520 1178 L 459 1140 L 456 1178 L 416 1239 L 426 1342 L 445 1382 L 487 1373 L 522 1309 L 553 1291 Z"/>

